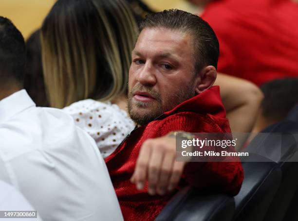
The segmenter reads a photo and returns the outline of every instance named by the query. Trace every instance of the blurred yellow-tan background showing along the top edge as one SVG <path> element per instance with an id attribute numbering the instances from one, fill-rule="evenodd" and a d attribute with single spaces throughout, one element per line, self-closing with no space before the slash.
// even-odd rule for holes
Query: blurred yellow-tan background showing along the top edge
<path id="1" fill-rule="evenodd" d="M 195 12 L 185 0 L 143 0 L 143 2 L 155 11 L 178 8 Z M 0 16 L 11 19 L 26 39 L 41 26 L 54 3 L 55 0 L 0 0 Z"/>

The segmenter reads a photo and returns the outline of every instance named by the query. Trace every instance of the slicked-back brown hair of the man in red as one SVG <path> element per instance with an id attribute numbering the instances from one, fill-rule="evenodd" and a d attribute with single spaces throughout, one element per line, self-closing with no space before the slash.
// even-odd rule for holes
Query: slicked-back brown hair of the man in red
<path id="1" fill-rule="evenodd" d="M 165 28 L 191 34 L 195 69 L 199 71 L 207 65 L 217 68 L 219 42 L 210 25 L 201 17 L 178 9 L 164 10 L 146 16 L 140 23 L 140 32 L 146 28 Z"/>

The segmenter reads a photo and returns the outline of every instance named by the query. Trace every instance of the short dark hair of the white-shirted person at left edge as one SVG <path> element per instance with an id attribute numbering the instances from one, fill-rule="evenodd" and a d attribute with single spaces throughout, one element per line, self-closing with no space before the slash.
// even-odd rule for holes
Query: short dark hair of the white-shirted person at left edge
<path id="1" fill-rule="evenodd" d="M 0 82 L 13 80 L 23 85 L 25 63 L 22 34 L 8 18 L 0 16 Z"/>

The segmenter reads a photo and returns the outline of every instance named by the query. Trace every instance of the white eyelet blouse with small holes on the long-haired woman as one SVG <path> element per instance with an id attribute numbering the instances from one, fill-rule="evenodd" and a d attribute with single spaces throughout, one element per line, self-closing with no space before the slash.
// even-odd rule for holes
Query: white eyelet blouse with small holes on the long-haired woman
<path id="1" fill-rule="evenodd" d="M 63 110 L 74 118 L 77 126 L 93 137 L 104 158 L 109 156 L 135 127 L 127 113 L 111 102 L 87 99 L 75 102 Z"/>

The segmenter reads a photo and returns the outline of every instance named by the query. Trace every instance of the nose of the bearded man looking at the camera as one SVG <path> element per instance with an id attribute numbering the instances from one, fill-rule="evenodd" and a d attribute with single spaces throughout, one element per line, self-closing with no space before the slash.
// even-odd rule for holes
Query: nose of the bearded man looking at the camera
<path id="1" fill-rule="evenodd" d="M 150 62 L 146 62 L 137 75 L 137 81 L 142 85 L 152 86 L 156 84 L 156 76 L 154 66 Z"/>

